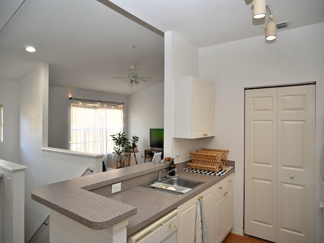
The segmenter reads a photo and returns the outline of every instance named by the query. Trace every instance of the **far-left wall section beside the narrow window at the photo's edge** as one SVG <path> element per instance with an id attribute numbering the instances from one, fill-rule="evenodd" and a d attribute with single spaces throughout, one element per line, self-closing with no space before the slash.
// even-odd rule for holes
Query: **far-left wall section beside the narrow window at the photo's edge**
<path id="1" fill-rule="evenodd" d="M 4 140 L 0 142 L 0 159 L 18 160 L 18 83 L 0 80 L 0 105 L 4 107 Z"/>

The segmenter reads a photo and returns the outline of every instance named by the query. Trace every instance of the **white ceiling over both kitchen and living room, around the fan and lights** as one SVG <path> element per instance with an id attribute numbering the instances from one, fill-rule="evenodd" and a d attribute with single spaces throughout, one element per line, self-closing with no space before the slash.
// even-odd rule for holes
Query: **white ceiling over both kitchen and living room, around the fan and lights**
<path id="1" fill-rule="evenodd" d="M 269 2 L 277 23 L 289 21 L 277 38 L 280 31 L 324 22 L 323 0 Z M 252 0 L 0 1 L 0 79 L 19 80 L 44 61 L 53 86 L 129 95 L 128 83 L 112 77 L 127 77 L 131 65 L 152 77 L 133 92 L 163 82 L 163 36 L 107 6 L 199 48 L 264 35 L 265 20 L 252 19 Z M 37 52 L 25 52 L 27 45 Z"/>

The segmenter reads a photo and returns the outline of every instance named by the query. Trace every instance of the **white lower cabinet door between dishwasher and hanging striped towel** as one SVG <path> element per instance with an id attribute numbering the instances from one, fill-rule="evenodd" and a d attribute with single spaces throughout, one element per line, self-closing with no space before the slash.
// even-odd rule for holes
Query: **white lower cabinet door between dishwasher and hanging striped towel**
<path id="1" fill-rule="evenodd" d="M 196 198 L 178 207 L 178 243 L 194 243 L 196 228 Z"/>

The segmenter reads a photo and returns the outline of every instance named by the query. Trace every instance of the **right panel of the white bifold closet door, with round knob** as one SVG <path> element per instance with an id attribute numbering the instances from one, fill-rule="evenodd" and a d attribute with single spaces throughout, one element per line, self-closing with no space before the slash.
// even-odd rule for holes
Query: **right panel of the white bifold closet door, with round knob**
<path id="1" fill-rule="evenodd" d="M 278 88 L 277 242 L 314 242 L 315 85 Z"/>

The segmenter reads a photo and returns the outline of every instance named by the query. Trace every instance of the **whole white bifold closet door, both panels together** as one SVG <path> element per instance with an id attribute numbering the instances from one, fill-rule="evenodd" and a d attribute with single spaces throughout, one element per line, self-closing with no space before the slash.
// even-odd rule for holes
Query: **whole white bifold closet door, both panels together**
<path id="1" fill-rule="evenodd" d="M 245 233 L 314 241 L 315 85 L 246 91 Z"/>

